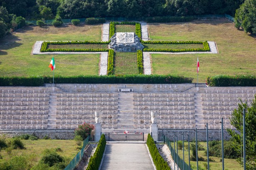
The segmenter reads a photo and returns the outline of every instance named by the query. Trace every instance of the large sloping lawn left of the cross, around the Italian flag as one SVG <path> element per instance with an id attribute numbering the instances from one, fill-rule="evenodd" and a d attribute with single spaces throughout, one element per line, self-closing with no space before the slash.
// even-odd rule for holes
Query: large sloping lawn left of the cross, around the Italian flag
<path id="1" fill-rule="evenodd" d="M 52 75 L 53 55 L 31 55 L 36 41 L 100 41 L 102 25 L 26 27 L 0 41 L 1 76 Z M 54 55 L 55 75 L 97 75 L 99 54 Z"/>

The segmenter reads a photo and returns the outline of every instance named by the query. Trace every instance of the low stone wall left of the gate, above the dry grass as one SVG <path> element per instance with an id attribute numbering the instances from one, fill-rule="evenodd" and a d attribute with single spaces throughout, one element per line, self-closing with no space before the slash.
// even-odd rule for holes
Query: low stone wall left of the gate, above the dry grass
<path id="1" fill-rule="evenodd" d="M 13 129 L 0 130 L 0 135 L 5 135 L 7 138 L 20 136 L 22 134 L 35 134 L 38 138 L 49 136 L 52 139 L 73 139 L 74 129 Z"/>

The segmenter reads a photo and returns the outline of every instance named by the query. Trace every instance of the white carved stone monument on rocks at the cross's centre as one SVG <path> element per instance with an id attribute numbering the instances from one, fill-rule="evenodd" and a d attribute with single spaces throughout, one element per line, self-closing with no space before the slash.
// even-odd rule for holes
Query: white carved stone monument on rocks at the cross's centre
<path id="1" fill-rule="evenodd" d="M 109 49 L 114 49 L 114 51 L 134 52 L 144 48 L 134 32 L 117 32 L 110 38 L 110 41 Z"/>

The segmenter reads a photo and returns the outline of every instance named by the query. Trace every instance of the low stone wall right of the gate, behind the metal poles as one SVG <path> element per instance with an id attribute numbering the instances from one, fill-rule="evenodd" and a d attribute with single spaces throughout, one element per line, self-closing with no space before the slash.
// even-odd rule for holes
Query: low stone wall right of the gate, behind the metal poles
<path id="1" fill-rule="evenodd" d="M 182 140 L 182 132 L 184 132 L 184 140 L 188 140 L 189 132 L 189 141 L 196 139 L 196 131 L 194 129 L 158 129 L 159 132 L 159 141 L 162 141 L 162 133 L 169 138 L 170 141 L 173 141 L 174 135 L 178 134 L 178 140 Z M 220 129 L 208 129 L 208 139 L 209 141 L 221 140 L 221 130 Z M 224 130 L 224 140 L 229 140 L 231 136 L 229 133 Z M 176 140 L 176 138 L 175 138 Z M 206 141 L 206 129 L 197 129 L 197 140 Z"/>

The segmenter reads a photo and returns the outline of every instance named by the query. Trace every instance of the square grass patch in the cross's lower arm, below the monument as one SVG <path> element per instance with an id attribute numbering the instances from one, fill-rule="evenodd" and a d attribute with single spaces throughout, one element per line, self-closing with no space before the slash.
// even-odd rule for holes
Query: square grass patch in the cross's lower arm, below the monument
<path id="1" fill-rule="evenodd" d="M 137 52 L 114 52 L 114 75 L 138 74 Z"/>

